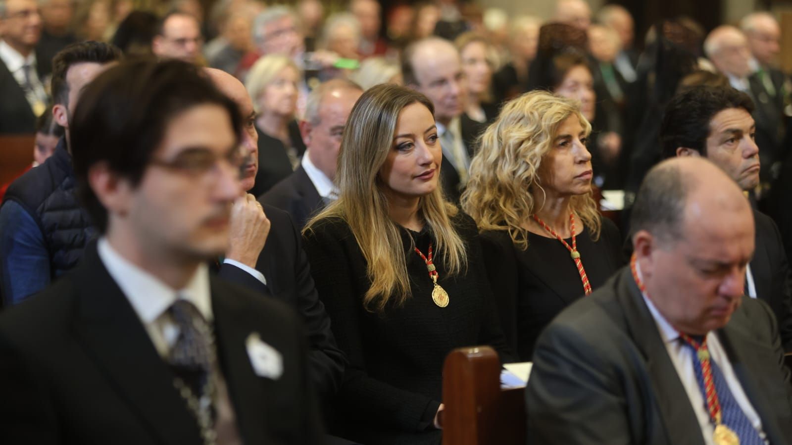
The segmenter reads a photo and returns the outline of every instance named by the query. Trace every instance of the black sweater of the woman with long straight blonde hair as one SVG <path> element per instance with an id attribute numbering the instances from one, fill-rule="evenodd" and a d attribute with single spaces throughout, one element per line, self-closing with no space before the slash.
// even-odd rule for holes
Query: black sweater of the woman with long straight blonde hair
<path id="1" fill-rule="evenodd" d="M 461 212 L 453 224 L 466 243 L 468 267 L 448 276 L 435 249 L 440 284 L 449 295 L 432 302 L 432 280 L 410 238 L 427 254 L 432 234 L 401 229 L 411 295 L 403 306 L 388 302 L 382 313 L 363 306 L 371 281 L 366 261 L 348 224 L 319 222 L 305 247 L 316 287 L 338 346 L 349 359 L 337 397 L 335 432 L 361 443 L 440 443 L 432 420 L 442 401 L 444 359 L 454 348 L 492 345 L 507 358 L 505 338 L 494 314 L 475 223 Z"/>

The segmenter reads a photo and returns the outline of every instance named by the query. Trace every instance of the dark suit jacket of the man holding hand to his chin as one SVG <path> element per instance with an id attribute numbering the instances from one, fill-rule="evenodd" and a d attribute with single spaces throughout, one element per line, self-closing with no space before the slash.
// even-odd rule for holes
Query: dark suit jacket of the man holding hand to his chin
<path id="1" fill-rule="evenodd" d="M 322 398 L 327 399 L 341 385 L 346 358 L 336 346 L 325 305 L 319 301 L 303 250 L 303 237 L 285 211 L 268 205 L 264 211 L 271 225 L 256 269 L 264 274 L 267 285 L 231 264 L 222 264 L 219 276 L 259 294 L 272 295 L 299 311 L 307 328 L 310 379 Z"/>

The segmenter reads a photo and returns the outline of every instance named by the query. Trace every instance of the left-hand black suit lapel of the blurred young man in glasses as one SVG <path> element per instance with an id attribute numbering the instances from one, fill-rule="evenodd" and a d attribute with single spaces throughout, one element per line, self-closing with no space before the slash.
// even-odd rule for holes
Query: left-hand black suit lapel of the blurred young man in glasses
<path id="1" fill-rule="evenodd" d="M 160 442 L 200 443 L 196 420 L 173 388 L 166 363 L 101 263 L 95 245 L 86 249 L 75 272 L 79 317 L 74 332 L 86 354 Z"/>

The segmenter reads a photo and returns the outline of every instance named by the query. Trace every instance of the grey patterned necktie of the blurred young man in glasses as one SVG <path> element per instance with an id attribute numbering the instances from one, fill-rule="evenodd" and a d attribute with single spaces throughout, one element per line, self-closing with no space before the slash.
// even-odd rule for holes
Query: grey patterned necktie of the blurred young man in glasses
<path id="1" fill-rule="evenodd" d="M 179 328 L 168 361 L 175 375 L 174 386 L 196 417 L 204 443 L 215 443 L 215 393 L 211 369 L 215 346 L 211 327 L 192 302 L 177 299 L 168 313 Z"/>

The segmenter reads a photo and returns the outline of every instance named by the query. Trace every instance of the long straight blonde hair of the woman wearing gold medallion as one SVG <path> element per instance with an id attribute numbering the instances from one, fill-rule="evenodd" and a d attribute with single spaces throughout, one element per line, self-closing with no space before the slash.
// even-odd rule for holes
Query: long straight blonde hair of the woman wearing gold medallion
<path id="1" fill-rule="evenodd" d="M 352 108 L 338 154 L 336 181 L 338 200 L 310 219 L 303 234 L 329 218 L 341 218 L 349 225 L 367 262 L 371 287 L 364 295 L 367 310 L 383 311 L 394 299 L 397 306 L 409 298 L 409 276 L 402 236 L 390 219 L 384 183 L 379 176 L 388 153 L 393 150 L 399 113 L 407 105 L 420 103 L 432 114 L 432 102 L 413 89 L 382 84 L 368 89 Z M 450 275 L 467 266 L 466 247 L 451 225 L 458 209 L 444 200 L 440 184 L 418 204 L 436 239 L 436 261 L 442 261 Z M 322 230 L 321 227 L 316 230 Z M 411 249 L 412 250 L 412 249 Z"/>

